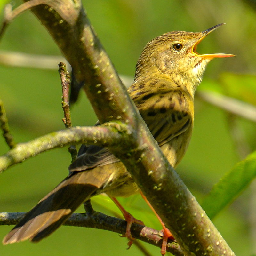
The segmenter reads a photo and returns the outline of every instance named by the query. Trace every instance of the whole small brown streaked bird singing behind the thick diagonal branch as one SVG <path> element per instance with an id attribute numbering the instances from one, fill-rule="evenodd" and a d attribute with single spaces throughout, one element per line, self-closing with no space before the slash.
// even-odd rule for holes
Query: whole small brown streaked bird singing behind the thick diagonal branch
<path id="1" fill-rule="evenodd" d="M 203 32 L 173 31 L 158 36 L 144 48 L 136 65 L 134 82 L 128 89 L 140 115 L 170 164 L 176 168 L 191 138 L 194 119 L 194 94 L 202 81 L 207 63 L 231 54 L 204 54 L 196 46 L 220 25 Z M 69 166 L 69 175 L 30 210 L 4 237 L 3 244 L 30 239 L 40 241 L 59 228 L 92 196 L 105 192 L 130 196 L 139 192 L 125 166 L 108 148 L 82 146 L 78 158 Z M 118 205 L 126 219 L 124 209 Z M 126 235 L 131 238 L 132 222 Z"/>

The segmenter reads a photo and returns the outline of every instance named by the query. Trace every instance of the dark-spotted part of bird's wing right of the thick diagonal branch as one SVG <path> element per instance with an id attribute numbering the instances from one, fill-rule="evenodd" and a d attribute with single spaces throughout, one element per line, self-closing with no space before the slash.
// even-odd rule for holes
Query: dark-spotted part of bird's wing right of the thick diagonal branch
<path id="1" fill-rule="evenodd" d="M 150 90 L 132 98 L 159 146 L 185 132 L 193 122 L 194 108 L 179 89 Z"/>

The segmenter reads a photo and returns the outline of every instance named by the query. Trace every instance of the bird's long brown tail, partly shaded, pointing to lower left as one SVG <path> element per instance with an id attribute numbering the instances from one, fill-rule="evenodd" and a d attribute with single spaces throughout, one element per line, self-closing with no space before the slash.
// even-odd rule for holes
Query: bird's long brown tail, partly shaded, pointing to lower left
<path id="1" fill-rule="evenodd" d="M 93 170 L 76 172 L 64 179 L 4 237 L 3 244 L 12 244 L 27 239 L 38 242 L 59 228 L 84 201 L 102 186 L 102 180 L 108 179 L 108 177 L 101 176 L 101 184 L 99 184 L 97 179 L 90 175 L 91 171 Z"/>

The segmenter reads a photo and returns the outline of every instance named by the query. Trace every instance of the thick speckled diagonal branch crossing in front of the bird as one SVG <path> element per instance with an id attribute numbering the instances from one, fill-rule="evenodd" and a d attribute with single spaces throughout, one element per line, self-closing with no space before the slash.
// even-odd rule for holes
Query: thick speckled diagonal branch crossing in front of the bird
<path id="1" fill-rule="evenodd" d="M 110 150 L 132 174 L 184 254 L 234 255 L 158 147 L 95 35 L 81 2 L 77 1 L 76 7 L 68 0 L 62 3 L 70 6 L 68 11 L 73 17 L 77 14 L 76 20 L 58 23 L 56 12 L 60 8 L 51 13 L 45 6 L 36 6 L 32 11 L 71 64 L 76 80 L 84 84 L 100 123 L 120 120 L 130 127 L 130 144 L 122 150 L 109 147 Z"/>

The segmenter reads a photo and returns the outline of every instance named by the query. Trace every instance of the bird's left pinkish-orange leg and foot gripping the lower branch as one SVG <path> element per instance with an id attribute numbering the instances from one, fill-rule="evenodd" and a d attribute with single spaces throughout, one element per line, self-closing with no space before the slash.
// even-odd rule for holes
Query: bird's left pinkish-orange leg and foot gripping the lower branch
<path id="1" fill-rule="evenodd" d="M 116 204 L 116 206 L 119 208 L 119 210 L 122 212 L 122 214 L 124 215 L 124 219 L 127 221 L 127 226 L 126 226 L 126 232 L 125 235 L 123 237 L 127 237 L 130 241 L 128 242 L 128 248 L 129 249 L 132 246 L 132 242 L 134 240 L 134 238 L 132 238 L 131 235 L 131 226 L 132 223 L 137 223 L 140 225 L 144 225 L 144 223 L 141 220 L 137 220 L 135 219 L 131 213 L 127 212 L 124 207 L 117 201 L 116 197 L 111 197 L 111 199 L 113 200 L 113 202 Z"/>

